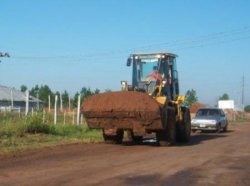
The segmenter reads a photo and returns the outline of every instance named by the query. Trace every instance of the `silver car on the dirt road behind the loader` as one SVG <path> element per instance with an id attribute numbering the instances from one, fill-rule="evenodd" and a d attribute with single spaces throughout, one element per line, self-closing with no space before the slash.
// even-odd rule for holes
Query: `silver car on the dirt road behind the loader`
<path id="1" fill-rule="evenodd" d="M 222 109 L 201 108 L 191 120 L 192 132 L 196 130 L 213 130 L 226 132 L 228 127 L 227 117 Z"/>

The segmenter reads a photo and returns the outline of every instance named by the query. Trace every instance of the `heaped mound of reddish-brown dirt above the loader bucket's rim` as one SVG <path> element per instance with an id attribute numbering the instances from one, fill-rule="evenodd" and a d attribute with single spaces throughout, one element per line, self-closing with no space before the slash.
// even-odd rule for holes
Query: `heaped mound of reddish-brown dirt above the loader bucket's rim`
<path id="1" fill-rule="evenodd" d="M 159 112 L 159 104 L 142 92 L 121 91 L 96 94 L 82 104 L 84 114 L 114 114 L 119 112 Z"/>

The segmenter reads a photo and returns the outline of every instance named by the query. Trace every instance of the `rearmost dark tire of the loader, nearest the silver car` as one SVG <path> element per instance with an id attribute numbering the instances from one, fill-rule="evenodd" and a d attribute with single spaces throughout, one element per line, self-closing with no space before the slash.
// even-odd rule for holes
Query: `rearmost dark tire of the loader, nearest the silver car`
<path id="1" fill-rule="evenodd" d="M 176 140 L 181 143 L 189 142 L 191 134 L 191 119 L 188 108 L 182 108 L 182 121 L 177 124 Z"/>

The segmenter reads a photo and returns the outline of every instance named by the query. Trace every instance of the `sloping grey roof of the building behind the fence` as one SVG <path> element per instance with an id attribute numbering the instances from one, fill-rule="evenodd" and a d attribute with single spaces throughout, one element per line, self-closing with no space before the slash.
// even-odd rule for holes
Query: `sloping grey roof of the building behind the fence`
<path id="1" fill-rule="evenodd" d="M 26 94 L 14 88 L 6 87 L 0 85 L 0 101 L 11 101 L 11 97 L 13 96 L 13 101 L 25 101 Z M 31 102 L 41 102 L 41 100 L 29 96 L 29 100 Z"/>

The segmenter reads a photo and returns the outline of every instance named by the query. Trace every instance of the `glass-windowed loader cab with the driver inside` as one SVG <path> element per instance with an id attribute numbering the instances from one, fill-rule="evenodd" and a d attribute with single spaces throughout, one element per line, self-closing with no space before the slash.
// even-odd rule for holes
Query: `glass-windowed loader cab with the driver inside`
<path id="1" fill-rule="evenodd" d="M 162 96 L 174 100 L 179 95 L 176 55 L 171 53 L 132 54 L 127 66 L 132 66 L 132 87 L 154 94 L 155 87 L 163 85 Z"/>

